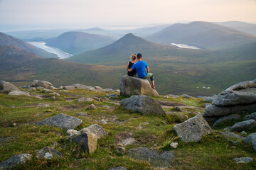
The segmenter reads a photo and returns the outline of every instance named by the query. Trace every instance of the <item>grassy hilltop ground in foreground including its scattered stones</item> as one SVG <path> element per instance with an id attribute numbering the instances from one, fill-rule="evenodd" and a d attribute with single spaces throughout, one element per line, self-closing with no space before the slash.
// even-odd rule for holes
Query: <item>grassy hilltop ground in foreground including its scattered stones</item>
<path id="1" fill-rule="evenodd" d="M 254 114 L 210 128 L 202 113 L 216 96 L 133 97 L 150 104 L 128 109 L 112 89 L 41 86 L 0 94 L 0 169 L 256 169 L 254 124 L 230 130 Z"/>

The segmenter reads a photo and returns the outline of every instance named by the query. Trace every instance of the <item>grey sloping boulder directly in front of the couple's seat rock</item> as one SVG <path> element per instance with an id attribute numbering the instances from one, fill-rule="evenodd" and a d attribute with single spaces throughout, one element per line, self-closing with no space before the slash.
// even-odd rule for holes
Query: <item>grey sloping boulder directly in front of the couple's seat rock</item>
<path id="1" fill-rule="evenodd" d="M 131 96 L 129 98 L 120 101 L 120 105 L 124 108 L 132 109 L 132 111 L 137 111 L 143 115 L 164 115 L 165 112 L 161 105 L 157 103 L 153 98 L 149 96 Z"/>

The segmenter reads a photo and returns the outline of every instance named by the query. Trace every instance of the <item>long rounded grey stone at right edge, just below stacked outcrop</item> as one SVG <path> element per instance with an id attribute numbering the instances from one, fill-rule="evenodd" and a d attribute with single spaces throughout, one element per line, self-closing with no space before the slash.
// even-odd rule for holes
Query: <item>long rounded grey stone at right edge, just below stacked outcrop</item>
<path id="1" fill-rule="evenodd" d="M 231 131 L 241 132 L 242 130 L 252 130 L 256 128 L 256 121 L 253 119 L 235 123 L 231 127 Z"/>

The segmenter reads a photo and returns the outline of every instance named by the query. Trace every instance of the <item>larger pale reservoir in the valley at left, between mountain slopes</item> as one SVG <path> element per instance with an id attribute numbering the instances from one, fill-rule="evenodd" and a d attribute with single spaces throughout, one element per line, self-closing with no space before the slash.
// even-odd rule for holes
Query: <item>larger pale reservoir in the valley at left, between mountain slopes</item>
<path id="1" fill-rule="evenodd" d="M 64 58 L 68 58 L 71 57 L 73 55 L 70 55 L 68 52 L 63 52 L 62 50 L 55 48 L 55 47 L 49 47 L 46 45 L 46 42 L 28 42 L 31 45 L 34 45 L 38 48 L 41 48 L 43 50 L 46 50 L 47 52 L 53 53 L 55 55 L 57 55 L 60 59 L 64 59 Z"/>

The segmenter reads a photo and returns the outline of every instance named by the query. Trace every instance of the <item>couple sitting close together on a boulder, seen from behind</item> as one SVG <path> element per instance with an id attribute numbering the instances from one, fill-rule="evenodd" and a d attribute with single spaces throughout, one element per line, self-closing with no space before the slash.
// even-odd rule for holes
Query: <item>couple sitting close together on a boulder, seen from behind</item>
<path id="1" fill-rule="evenodd" d="M 142 54 L 137 54 L 137 62 L 136 62 L 136 55 L 131 56 L 131 62 L 128 62 L 127 64 L 127 70 L 128 70 L 128 76 L 136 77 L 136 74 L 141 79 L 150 79 L 152 83 L 152 88 L 156 89 L 156 86 L 154 85 L 154 75 L 149 72 L 149 66 L 146 64 L 146 62 L 142 61 Z M 145 72 L 145 69 L 147 72 Z"/>

